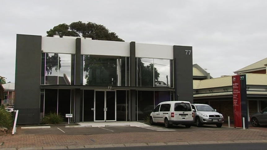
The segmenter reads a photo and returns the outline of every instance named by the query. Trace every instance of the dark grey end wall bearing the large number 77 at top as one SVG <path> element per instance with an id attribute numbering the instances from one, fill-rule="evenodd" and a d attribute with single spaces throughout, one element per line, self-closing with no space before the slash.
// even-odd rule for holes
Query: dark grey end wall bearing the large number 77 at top
<path id="1" fill-rule="evenodd" d="M 173 46 L 175 100 L 193 103 L 193 57 L 191 46 Z"/>

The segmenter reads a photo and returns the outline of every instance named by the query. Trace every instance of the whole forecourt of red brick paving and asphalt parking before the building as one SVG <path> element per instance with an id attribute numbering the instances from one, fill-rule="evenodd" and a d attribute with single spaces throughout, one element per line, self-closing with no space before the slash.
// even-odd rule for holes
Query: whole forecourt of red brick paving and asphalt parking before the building
<path id="1" fill-rule="evenodd" d="M 190 128 L 173 126 L 168 129 L 171 131 L 157 131 L 151 130 L 149 127 L 165 129 L 164 126 L 149 126 L 142 125 L 142 123 L 139 126 L 106 125 L 76 128 L 61 125 L 45 129 L 21 129 L 18 127 L 15 135 L 0 137 L 0 149 L 63 149 L 155 144 L 267 142 L 267 131 L 260 130 L 261 128 L 243 130 L 228 128 L 228 126 L 223 126 L 222 128 L 215 126 L 203 126 L 202 128 L 195 126 Z"/>

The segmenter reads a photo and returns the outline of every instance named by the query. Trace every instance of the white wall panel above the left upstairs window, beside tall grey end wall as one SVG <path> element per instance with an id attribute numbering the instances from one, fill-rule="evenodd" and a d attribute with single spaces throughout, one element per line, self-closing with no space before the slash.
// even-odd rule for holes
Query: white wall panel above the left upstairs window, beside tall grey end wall
<path id="1" fill-rule="evenodd" d="M 42 37 L 42 50 L 46 53 L 75 54 L 76 38 Z"/>

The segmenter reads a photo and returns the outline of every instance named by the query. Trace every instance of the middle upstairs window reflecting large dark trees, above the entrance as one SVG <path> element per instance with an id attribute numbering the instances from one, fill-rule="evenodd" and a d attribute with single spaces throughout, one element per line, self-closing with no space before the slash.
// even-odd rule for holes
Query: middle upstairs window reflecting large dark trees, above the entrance
<path id="1" fill-rule="evenodd" d="M 126 57 L 84 55 L 83 85 L 126 86 Z"/>

